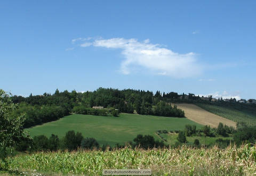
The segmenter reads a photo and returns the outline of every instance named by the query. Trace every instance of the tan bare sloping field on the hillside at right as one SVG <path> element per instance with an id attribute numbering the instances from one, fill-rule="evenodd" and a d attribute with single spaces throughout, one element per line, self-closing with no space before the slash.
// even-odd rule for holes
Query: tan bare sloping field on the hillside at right
<path id="1" fill-rule="evenodd" d="M 194 104 L 183 103 L 175 105 L 177 105 L 178 108 L 181 108 L 185 112 L 185 116 L 187 117 L 187 119 L 194 122 L 203 125 L 210 125 L 211 127 L 218 127 L 218 124 L 221 122 L 223 124 L 227 124 L 228 126 L 236 127 L 236 122 L 205 111 L 203 108 L 198 107 Z"/>

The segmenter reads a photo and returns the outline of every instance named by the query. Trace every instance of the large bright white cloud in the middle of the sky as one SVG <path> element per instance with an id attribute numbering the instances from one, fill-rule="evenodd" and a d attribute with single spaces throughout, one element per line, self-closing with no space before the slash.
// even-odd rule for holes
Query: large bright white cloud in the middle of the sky
<path id="1" fill-rule="evenodd" d="M 121 63 L 120 70 L 124 74 L 130 74 L 138 67 L 154 74 L 174 78 L 193 77 L 203 72 L 203 66 L 196 60 L 195 53 L 174 53 L 159 44 L 151 44 L 149 39 L 143 42 L 133 38 L 95 39 L 92 43 L 84 43 L 80 46 L 90 45 L 121 49 L 125 59 Z"/>

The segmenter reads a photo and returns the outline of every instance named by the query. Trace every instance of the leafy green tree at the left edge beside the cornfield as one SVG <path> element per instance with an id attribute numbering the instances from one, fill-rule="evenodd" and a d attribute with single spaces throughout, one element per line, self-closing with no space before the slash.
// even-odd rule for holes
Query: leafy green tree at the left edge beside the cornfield
<path id="1" fill-rule="evenodd" d="M 12 147 L 19 145 L 22 138 L 30 138 L 22 128 L 25 121 L 23 115 L 9 119 L 10 112 L 17 107 L 12 103 L 10 95 L 0 89 L 0 160 L 3 162 L 0 170 L 7 168 L 6 157 L 12 154 Z"/>

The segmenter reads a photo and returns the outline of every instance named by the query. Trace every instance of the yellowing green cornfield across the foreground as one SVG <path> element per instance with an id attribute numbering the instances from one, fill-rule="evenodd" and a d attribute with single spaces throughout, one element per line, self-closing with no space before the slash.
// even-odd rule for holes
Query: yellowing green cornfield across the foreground
<path id="1" fill-rule="evenodd" d="M 102 169 L 152 169 L 153 175 L 255 175 L 256 145 L 112 151 L 81 150 L 19 155 L 10 170 L 30 175 L 101 175 Z"/>

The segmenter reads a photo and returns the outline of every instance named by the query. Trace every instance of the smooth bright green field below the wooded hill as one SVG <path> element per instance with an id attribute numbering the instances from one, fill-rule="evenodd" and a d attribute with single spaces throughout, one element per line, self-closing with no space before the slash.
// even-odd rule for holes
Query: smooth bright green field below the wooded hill
<path id="1" fill-rule="evenodd" d="M 82 132 L 84 137 L 95 138 L 100 145 L 125 144 L 132 141 L 138 134 L 151 135 L 160 140 L 156 130 L 183 130 L 186 124 L 195 124 L 197 128 L 201 124 L 190 121 L 186 118 L 166 118 L 162 116 L 120 114 L 114 116 L 96 116 L 73 114 L 64 118 L 38 125 L 27 129 L 32 137 L 51 134 L 59 138 L 65 136 L 69 130 Z"/>

